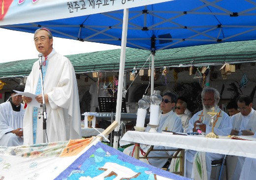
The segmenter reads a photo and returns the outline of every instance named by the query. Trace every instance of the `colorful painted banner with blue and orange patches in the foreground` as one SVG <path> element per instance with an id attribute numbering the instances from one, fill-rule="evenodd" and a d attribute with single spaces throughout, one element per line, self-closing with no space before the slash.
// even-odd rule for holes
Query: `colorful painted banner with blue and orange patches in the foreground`
<path id="1" fill-rule="evenodd" d="M 0 147 L 0 180 L 136 179 L 188 180 L 94 142 L 93 138 Z"/>

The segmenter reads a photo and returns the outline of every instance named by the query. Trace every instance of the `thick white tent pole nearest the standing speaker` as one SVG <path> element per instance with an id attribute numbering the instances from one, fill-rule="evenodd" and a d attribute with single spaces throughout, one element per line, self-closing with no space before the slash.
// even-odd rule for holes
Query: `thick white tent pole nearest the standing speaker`
<path id="1" fill-rule="evenodd" d="M 120 66 L 119 66 L 119 78 L 118 78 L 118 91 L 117 91 L 117 107 L 116 107 L 116 121 L 120 125 L 121 119 L 121 107 L 122 107 L 122 95 L 124 87 L 124 71 L 125 71 L 125 61 L 126 61 L 126 42 L 127 42 L 127 29 L 128 29 L 128 12 L 129 9 L 124 9 L 123 17 L 123 30 L 122 30 L 122 42 L 121 42 L 121 55 L 120 55 Z M 119 131 L 119 127 L 115 128 L 115 132 Z M 113 148 L 118 148 L 118 138 L 117 134 L 114 134 Z"/>

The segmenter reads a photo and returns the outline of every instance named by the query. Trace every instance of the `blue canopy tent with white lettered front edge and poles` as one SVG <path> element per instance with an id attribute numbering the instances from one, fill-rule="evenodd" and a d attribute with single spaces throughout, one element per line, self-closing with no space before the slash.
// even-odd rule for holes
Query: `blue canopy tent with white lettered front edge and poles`
<path id="1" fill-rule="evenodd" d="M 116 110 L 118 122 L 125 47 L 151 51 L 154 67 L 154 52 L 161 49 L 256 39 L 256 2 L 253 0 L 0 2 L 0 28 L 33 33 L 38 27 L 46 27 L 55 37 L 122 46 Z M 153 73 L 151 71 L 152 82 Z"/>

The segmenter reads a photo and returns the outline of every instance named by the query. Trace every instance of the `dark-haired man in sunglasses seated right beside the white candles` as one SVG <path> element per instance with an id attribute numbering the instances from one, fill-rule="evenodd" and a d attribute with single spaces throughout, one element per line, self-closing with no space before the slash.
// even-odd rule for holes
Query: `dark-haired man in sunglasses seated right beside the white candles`
<path id="1" fill-rule="evenodd" d="M 172 111 L 172 108 L 175 106 L 177 102 L 177 96 L 174 93 L 166 92 L 162 96 L 162 102 L 160 103 L 160 116 L 159 116 L 159 126 L 157 127 L 157 132 L 161 133 L 162 130 L 173 131 L 173 132 L 183 132 L 181 119 Z M 146 129 L 148 131 L 149 128 Z M 132 155 L 132 150 L 134 146 L 130 146 L 124 150 L 124 153 L 128 155 Z M 150 146 L 142 145 L 141 148 L 144 152 L 150 148 Z M 154 146 L 154 150 L 170 150 L 170 147 L 163 146 Z M 173 148 L 175 149 L 175 148 Z M 166 157 L 173 155 L 175 151 L 151 151 L 148 157 Z M 140 156 L 141 154 L 140 151 Z M 144 159 L 140 159 L 144 161 Z M 148 161 L 144 161 L 146 163 L 150 163 L 151 165 L 162 168 L 167 162 L 168 158 L 149 158 Z"/>

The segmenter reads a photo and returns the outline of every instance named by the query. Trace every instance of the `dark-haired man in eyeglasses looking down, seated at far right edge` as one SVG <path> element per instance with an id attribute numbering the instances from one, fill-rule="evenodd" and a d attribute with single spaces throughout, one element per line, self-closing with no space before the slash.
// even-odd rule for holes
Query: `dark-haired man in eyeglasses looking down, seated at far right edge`
<path id="1" fill-rule="evenodd" d="M 252 108 L 253 101 L 248 95 L 240 95 L 236 99 L 240 113 L 231 117 L 232 131 L 230 135 L 253 136 L 256 131 L 256 111 Z M 245 157 L 238 157 L 236 168 L 231 180 L 239 180 Z"/>

